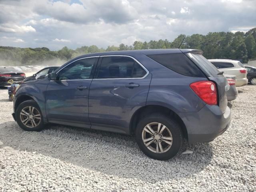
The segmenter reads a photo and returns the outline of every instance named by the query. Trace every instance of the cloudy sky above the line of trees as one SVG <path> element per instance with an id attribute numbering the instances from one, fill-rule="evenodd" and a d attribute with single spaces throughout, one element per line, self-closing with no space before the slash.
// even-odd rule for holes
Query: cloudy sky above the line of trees
<path id="1" fill-rule="evenodd" d="M 254 27 L 256 0 L 0 0 L 0 46 L 106 48 Z"/>

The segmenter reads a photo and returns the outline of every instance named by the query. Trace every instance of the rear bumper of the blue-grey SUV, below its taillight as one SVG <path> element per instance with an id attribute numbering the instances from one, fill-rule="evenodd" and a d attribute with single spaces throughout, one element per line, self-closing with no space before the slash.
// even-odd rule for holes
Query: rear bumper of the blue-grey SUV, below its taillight
<path id="1" fill-rule="evenodd" d="M 183 113 L 180 116 L 183 116 L 189 144 L 213 141 L 228 129 L 231 122 L 228 106 L 224 114 L 218 106 L 205 105 L 199 112 Z"/>

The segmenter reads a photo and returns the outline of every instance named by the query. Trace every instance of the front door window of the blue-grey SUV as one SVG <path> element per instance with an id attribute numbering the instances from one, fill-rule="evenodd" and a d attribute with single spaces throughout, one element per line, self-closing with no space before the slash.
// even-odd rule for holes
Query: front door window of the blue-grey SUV
<path id="1" fill-rule="evenodd" d="M 96 65 L 97 60 L 98 58 L 87 58 L 75 61 L 60 70 L 58 80 L 90 79 L 92 68 Z"/>

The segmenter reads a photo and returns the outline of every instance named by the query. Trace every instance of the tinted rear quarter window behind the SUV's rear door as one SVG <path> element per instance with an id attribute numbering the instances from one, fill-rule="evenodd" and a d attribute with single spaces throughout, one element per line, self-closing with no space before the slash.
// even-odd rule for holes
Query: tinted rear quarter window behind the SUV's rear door
<path id="1" fill-rule="evenodd" d="M 203 72 L 184 54 L 173 53 L 147 56 L 179 74 L 190 77 L 205 77 Z"/>

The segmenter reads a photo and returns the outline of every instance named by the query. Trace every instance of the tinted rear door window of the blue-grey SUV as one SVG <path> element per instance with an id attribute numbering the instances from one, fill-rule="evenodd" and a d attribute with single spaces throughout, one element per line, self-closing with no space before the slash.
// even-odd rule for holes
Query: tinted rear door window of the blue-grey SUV
<path id="1" fill-rule="evenodd" d="M 124 56 L 103 57 L 98 79 L 141 78 L 146 71 L 135 60 Z"/>

